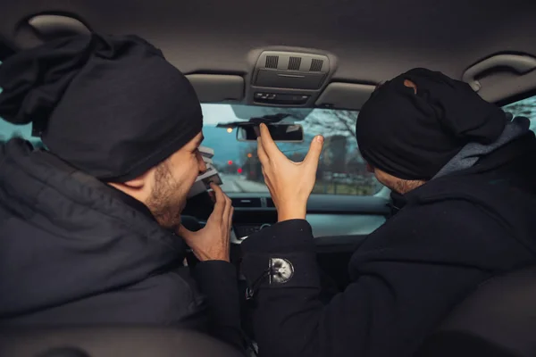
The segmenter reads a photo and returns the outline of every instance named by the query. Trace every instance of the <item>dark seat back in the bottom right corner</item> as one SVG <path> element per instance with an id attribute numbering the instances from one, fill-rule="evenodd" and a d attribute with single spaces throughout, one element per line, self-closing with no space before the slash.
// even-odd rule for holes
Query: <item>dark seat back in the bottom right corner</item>
<path id="1" fill-rule="evenodd" d="M 536 267 L 483 283 L 417 353 L 455 355 L 536 356 Z"/>

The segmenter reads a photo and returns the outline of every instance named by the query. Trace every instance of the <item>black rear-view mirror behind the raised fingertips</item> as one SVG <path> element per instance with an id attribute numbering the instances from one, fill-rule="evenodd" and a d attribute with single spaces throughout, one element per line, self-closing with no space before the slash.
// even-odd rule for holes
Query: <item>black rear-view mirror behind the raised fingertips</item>
<path id="1" fill-rule="evenodd" d="M 284 143 L 303 143 L 304 129 L 298 124 L 267 124 L 273 141 Z M 243 124 L 237 127 L 238 141 L 256 141 L 260 135 L 256 124 Z"/>

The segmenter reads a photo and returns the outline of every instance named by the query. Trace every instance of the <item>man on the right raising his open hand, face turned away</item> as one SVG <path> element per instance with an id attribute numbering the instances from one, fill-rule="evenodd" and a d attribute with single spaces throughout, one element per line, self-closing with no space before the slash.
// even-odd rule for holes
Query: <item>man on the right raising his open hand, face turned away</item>
<path id="1" fill-rule="evenodd" d="M 322 138 L 297 163 L 261 131 L 279 223 L 241 248 L 266 356 L 413 356 L 479 284 L 536 263 L 536 138 L 466 83 L 415 69 L 364 104 L 359 149 L 406 204 L 356 247 L 351 283 L 329 303 L 305 220 Z"/>

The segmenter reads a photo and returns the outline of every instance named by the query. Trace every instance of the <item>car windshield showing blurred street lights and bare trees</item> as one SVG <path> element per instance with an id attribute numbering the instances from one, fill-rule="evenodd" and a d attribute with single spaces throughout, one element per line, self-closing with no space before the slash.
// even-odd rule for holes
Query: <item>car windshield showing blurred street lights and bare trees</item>
<path id="1" fill-rule="evenodd" d="M 277 113 L 290 114 L 282 123 L 296 122 L 304 128 L 303 143 L 278 143 L 289 159 L 302 161 L 313 137 L 318 134 L 325 137 L 314 194 L 373 195 L 381 189 L 373 174 L 367 172 L 357 149 L 358 112 L 203 104 L 203 145 L 214 149 L 214 165 L 221 172 L 225 192 L 268 192 L 268 188 L 264 185 L 256 143 L 237 141 L 236 129 L 216 128 L 216 125 Z"/>

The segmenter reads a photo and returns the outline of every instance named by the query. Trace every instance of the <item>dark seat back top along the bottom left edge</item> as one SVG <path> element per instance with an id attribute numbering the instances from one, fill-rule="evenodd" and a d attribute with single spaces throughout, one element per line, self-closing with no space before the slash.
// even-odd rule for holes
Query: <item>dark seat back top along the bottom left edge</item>
<path id="1" fill-rule="evenodd" d="M 235 357 L 229 345 L 190 330 L 48 328 L 0 331 L 0 356 Z"/>

